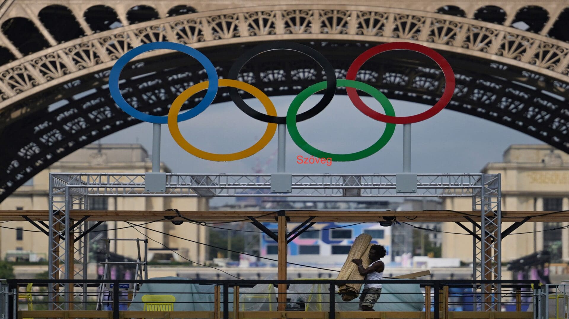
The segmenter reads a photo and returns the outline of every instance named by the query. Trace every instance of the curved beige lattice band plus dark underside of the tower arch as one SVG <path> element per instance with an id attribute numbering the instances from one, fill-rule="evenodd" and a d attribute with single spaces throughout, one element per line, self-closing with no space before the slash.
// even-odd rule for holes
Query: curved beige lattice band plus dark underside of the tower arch
<path id="1" fill-rule="evenodd" d="M 1 145 L 5 154 L 0 166 L 7 169 L 0 177 L 0 201 L 57 159 L 138 123 L 116 109 L 105 87 L 105 70 L 126 51 L 156 41 L 189 44 L 204 51 L 225 76 L 228 60 L 234 58 L 226 52 L 237 56 L 242 46 L 267 40 L 314 42 L 332 60 L 339 78 L 369 43 L 425 44 L 454 59 L 450 62 L 457 71 L 457 87 L 448 108 L 510 126 L 569 152 L 569 43 L 494 23 L 393 7 L 233 8 L 54 42 L 34 54 L 19 54 L 18 60 L 0 67 L 0 130 L 13 137 Z M 151 52 L 147 59 L 164 54 Z M 150 65 L 149 60 L 138 60 L 135 67 L 144 66 L 139 74 L 158 72 L 158 78 L 127 81 L 125 94 L 131 95 L 131 103 L 143 112 L 164 114 L 167 105 L 158 104 L 170 104 L 175 92 L 203 80 L 195 64 L 176 68 L 188 64 L 187 58 L 183 61 Z M 299 65 L 273 60 L 263 64 L 264 69 L 253 67 L 242 74 L 245 81 L 257 80 L 255 85 L 269 95 L 294 95 L 299 87 L 322 79 L 319 68 Z M 437 68 L 413 64 L 413 59 L 392 58 L 369 67 L 366 63 L 359 80 L 382 89 L 388 97 L 433 104 L 444 89 L 441 76 Z M 91 89 L 94 93 L 77 97 Z M 53 104 L 58 101 L 68 104 Z"/>

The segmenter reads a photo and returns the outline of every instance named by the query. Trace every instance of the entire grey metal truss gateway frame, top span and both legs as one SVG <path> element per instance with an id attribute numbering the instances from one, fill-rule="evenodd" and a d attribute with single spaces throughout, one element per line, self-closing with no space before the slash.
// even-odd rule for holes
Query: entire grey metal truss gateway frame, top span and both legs
<path id="1" fill-rule="evenodd" d="M 418 193 L 397 193 L 396 174 L 292 174 L 292 193 L 271 193 L 270 174 L 166 174 L 166 192 L 146 193 L 145 174 L 50 174 L 50 279 L 86 279 L 90 229 L 68 212 L 88 208 L 89 197 L 471 197 L 480 210 L 480 240 L 473 243 L 473 278 L 501 279 L 500 174 L 418 174 Z M 310 220 L 307 221 L 307 223 Z M 62 231 L 63 230 L 63 234 Z M 63 238 L 62 238 L 63 235 Z M 473 236 L 473 238 L 475 238 Z M 67 253 L 72 252 L 72 253 Z M 68 260 L 73 260 L 68 263 Z M 61 267 L 63 266 L 63 267 Z M 480 273 L 480 276 L 477 275 Z M 57 309 L 84 309 L 86 287 L 52 285 Z M 485 310 L 496 310 L 500 287 L 483 285 Z M 73 298 L 73 299 L 72 299 Z M 66 300 L 64 304 L 57 300 Z M 75 301 L 75 302 L 73 302 Z M 83 308 L 82 308 L 83 307 Z"/>

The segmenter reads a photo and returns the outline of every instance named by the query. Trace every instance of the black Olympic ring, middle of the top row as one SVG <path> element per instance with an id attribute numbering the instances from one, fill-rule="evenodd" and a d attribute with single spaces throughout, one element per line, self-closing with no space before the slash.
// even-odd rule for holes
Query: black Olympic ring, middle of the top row
<path id="1" fill-rule="evenodd" d="M 298 114 L 296 116 L 296 121 L 300 122 L 308 120 L 308 118 L 311 118 L 320 113 L 325 107 L 328 106 L 328 104 L 330 104 L 332 98 L 336 93 L 336 71 L 328 59 L 324 57 L 324 55 L 311 47 L 305 46 L 304 44 L 294 42 L 269 42 L 259 44 L 258 46 L 251 48 L 249 51 L 246 51 L 235 61 L 235 63 L 233 63 L 233 66 L 231 69 L 229 69 L 228 78 L 230 80 L 237 80 L 239 72 L 241 72 L 241 68 L 243 68 L 245 63 L 249 62 L 250 59 L 253 59 L 259 54 L 273 50 L 291 50 L 300 52 L 302 54 L 310 56 L 310 58 L 314 59 L 316 63 L 318 63 L 320 67 L 324 69 L 327 85 L 322 99 L 320 99 L 320 101 L 308 111 Z M 241 109 L 241 111 L 245 112 L 256 120 L 267 123 L 286 124 L 286 116 L 270 116 L 255 111 L 247 103 L 245 103 L 245 101 L 239 95 L 237 88 L 229 88 L 229 97 L 231 97 L 233 103 L 235 103 L 237 107 Z"/>

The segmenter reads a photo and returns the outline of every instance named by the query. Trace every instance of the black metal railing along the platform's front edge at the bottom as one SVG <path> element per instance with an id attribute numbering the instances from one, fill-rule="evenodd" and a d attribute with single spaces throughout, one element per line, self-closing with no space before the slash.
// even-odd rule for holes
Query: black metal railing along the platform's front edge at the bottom
<path id="1" fill-rule="evenodd" d="M 172 311 L 160 316 L 170 318 L 479 318 L 483 304 L 498 305 L 494 318 L 547 318 L 540 304 L 543 286 L 538 280 L 6 280 L 9 309 L 2 310 L 5 318 L 85 317 L 93 316 L 95 305 L 103 300 L 101 316 L 105 318 L 136 318 L 158 316 L 142 302 L 143 295 L 173 295 Z M 19 302 L 28 283 L 32 283 L 30 300 Z M 343 284 L 381 283 L 383 289 L 377 301 L 382 311 L 357 312 L 358 298 L 344 301 L 337 287 Z M 107 295 L 98 298 L 97 287 L 111 285 Z M 125 296 L 121 287 L 137 287 L 134 296 Z M 159 285 L 157 285 L 159 284 Z M 287 301 L 278 302 L 277 284 L 287 284 Z M 48 286 L 75 287 L 85 291 L 83 298 L 75 292 L 75 300 L 48 298 Z M 501 285 L 500 295 L 483 297 L 483 285 Z M 83 289 L 85 288 L 86 289 Z M 63 289 L 62 289 L 63 290 Z M 74 293 L 65 291 L 65 293 Z M 21 297 L 21 296 L 20 296 Z M 22 298 L 20 298 L 22 300 Z M 56 307 L 55 303 L 59 303 Z M 26 304 L 33 310 L 20 310 Z M 63 304 L 63 306 L 61 306 Z M 280 304 L 280 306 L 279 306 Z M 65 310 L 51 310 L 51 309 Z M 89 310 L 89 311 L 86 311 Z M 180 311 L 183 310 L 183 311 Z M 278 311 L 280 310 L 280 311 Z M 388 310 L 388 311 L 384 311 Z M 460 315 L 457 315 L 462 310 Z M 508 312 L 501 317 L 500 310 Z M 67 312 L 67 313 L 66 313 Z M 292 313 L 296 314 L 292 314 Z M 303 312 L 303 314 L 298 314 Z M 469 316 L 467 313 L 473 313 Z M 255 313 L 253 315 L 253 313 Z M 288 314 L 287 314 L 288 313 Z M 541 316 L 540 314 L 543 314 Z M 299 317 L 300 316 L 300 317 Z M 303 317 L 304 316 L 304 317 Z M 363 317 L 362 317 L 363 316 Z M 484 316 L 487 317 L 487 316 Z M 93 318 L 93 317 L 90 317 Z"/>

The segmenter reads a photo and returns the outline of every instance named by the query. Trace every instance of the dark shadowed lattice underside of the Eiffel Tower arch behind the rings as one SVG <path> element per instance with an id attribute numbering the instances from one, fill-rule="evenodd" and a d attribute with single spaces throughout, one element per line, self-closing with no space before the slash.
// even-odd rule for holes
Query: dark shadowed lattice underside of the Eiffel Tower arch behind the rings
<path id="1" fill-rule="evenodd" d="M 344 78 L 351 61 L 374 43 L 307 43 L 322 52 L 336 68 L 336 76 Z M 240 55 L 249 46 L 228 46 L 224 50 L 202 50 L 226 77 L 233 63 L 226 52 Z M 339 50 L 341 49 L 341 50 Z M 563 83 L 521 68 L 505 66 L 488 60 L 443 53 L 456 73 L 456 91 L 447 109 L 485 118 L 529 134 L 560 150 L 569 152 L 569 113 L 567 91 Z M 435 104 L 444 91 L 442 72 L 429 62 L 415 56 L 385 54 L 370 60 L 358 80 L 380 89 L 390 99 Z M 321 69 L 310 58 L 275 59 L 270 54 L 247 64 L 241 80 L 262 89 L 269 96 L 296 95 L 318 81 L 324 80 Z M 123 95 L 135 108 L 149 114 L 164 115 L 168 104 L 193 83 L 207 80 L 203 67 L 188 61 L 185 55 L 168 55 L 143 60 L 125 68 L 121 84 Z M 0 123 L 11 138 L 0 141 L 3 156 L 0 167 L 0 201 L 39 171 L 60 158 L 108 134 L 118 132 L 139 121 L 122 112 L 110 99 L 104 80 L 108 71 L 101 71 L 65 83 L 22 104 L 18 116 Z M 515 79 L 512 80 L 512 79 Z M 561 86 L 560 86 L 561 85 Z M 216 102 L 228 101 L 220 89 Z M 79 93 L 90 90 L 89 95 Z M 345 94 L 338 88 L 337 94 Z M 82 97 L 77 97 L 82 96 Z M 199 95 L 196 95 L 196 98 Z M 47 109 L 57 101 L 70 103 Z M 193 107 L 195 101 L 188 101 Z M 25 109 L 43 108 L 37 112 Z M 354 109 L 354 112 L 357 110 Z"/>

